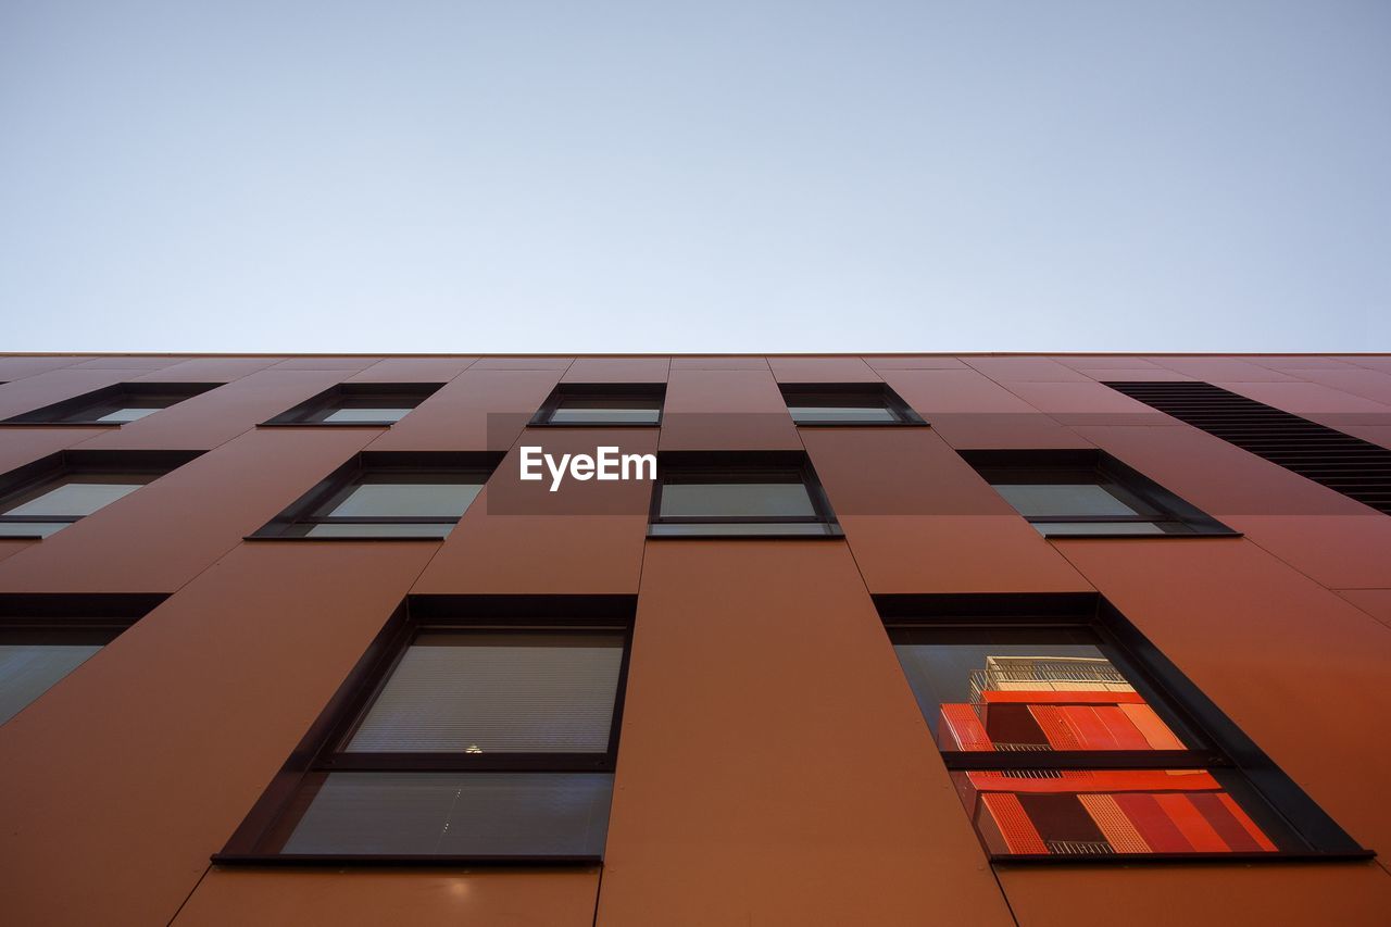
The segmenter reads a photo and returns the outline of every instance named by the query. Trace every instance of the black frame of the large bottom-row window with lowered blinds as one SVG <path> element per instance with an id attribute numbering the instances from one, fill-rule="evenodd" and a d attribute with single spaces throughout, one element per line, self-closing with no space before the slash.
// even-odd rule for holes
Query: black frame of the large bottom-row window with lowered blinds
<path id="1" fill-rule="evenodd" d="M 323 853 L 289 855 L 281 846 L 294 832 L 300 817 L 295 800 L 306 779 L 332 771 L 392 772 L 608 772 L 618 768 L 619 736 L 623 728 L 623 703 L 627 692 L 629 661 L 633 654 L 633 629 L 637 615 L 636 596 L 408 596 L 383 625 L 338 686 L 328 704 L 291 753 L 236 828 L 227 845 L 211 856 L 218 864 L 255 866 L 595 866 L 602 855 L 357 855 Z M 377 695 L 420 633 L 465 629 L 502 633 L 611 632 L 623 636 L 613 715 L 608 749 L 593 753 L 392 753 L 351 757 L 335 750 L 348 732 L 371 708 Z M 389 766 L 384 766 L 389 764 Z"/>

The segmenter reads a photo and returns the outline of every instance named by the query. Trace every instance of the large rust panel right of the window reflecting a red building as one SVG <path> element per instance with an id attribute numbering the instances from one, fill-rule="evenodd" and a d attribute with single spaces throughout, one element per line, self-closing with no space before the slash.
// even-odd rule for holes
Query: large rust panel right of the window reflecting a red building
<path id="1" fill-rule="evenodd" d="M 1057 548 L 1355 839 L 1391 845 L 1391 749 L 1366 728 L 1391 714 L 1384 625 L 1244 540 Z"/>

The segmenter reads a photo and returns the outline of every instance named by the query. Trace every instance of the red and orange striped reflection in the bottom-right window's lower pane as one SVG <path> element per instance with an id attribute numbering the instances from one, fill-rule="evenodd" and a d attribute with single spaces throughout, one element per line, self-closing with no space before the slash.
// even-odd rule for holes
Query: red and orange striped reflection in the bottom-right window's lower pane
<path id="1" fill-rule="evenodd" d="M 1273 853 L 1209 770 L 953 772 L 995 855 Z"/>

